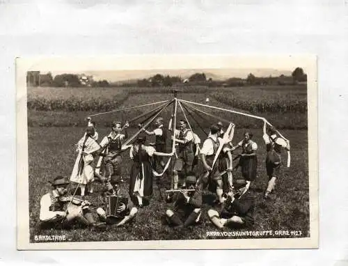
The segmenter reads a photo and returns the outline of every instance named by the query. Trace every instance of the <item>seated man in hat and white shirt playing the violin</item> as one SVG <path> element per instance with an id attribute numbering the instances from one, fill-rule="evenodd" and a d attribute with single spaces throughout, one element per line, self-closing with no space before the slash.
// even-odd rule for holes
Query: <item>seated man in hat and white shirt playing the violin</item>
<path id="1" fill-rule="evenodd" d="M 103 223 L 95 223 L 90 212 L 88 201 L 67 196 L 68 180 L 61 176 L 54 178 L 52 191 L 42 196 L 40 201 L 40 225 L 42 228 L 67 227 L 73 221 L 84 226 L 102 227 Z"/>

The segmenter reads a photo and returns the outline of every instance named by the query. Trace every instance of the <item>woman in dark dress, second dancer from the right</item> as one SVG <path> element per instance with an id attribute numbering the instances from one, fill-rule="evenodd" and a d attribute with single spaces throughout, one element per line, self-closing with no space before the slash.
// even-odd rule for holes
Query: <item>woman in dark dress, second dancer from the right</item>
<path id="1" fill-rule="evenodd" d="M 242 168 L 242 176 L 247 182 L 247 187 L 250 186 L 251 181 L 255 180 L 258 170 L 258 157 L 256 155 L 258 144 L 252 141 L 252 138 L 253 134 L 251 132 L 245 132 L 244 139 L 232 148 L 232 150 L 242 148 L 238 166 Z"/>

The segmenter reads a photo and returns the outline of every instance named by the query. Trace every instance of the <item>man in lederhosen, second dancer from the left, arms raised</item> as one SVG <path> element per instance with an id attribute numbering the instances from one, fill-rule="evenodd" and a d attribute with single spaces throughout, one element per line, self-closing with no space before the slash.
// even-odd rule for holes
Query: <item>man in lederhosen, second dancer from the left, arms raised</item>
<path id="1" fill-rule="evenodd" d="M 122 143 L 127 139 L 127 127 L 129 124 L 125 123 L 125 133 L 122 134 L 122 127 L 120 121 L 112 123 L 112 131 L 108 136 L 100 142 L 101 150 L 107 148 L 105 156 L 105 168 L 107 173 L 107 187 L 112 189 L 111 180 L 122 180 Z"/>

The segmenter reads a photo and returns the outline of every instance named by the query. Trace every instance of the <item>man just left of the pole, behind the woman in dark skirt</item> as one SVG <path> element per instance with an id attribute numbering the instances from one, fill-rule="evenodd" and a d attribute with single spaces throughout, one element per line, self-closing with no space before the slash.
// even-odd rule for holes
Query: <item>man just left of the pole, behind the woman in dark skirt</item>
<path id="1" fill-rule="evenodd" d="M 167 132 L 164 128 L 164 121 L 163 118 L 159 117 L 155 120 L 156 129 L 153 131 L 145 130 L 145 133 L 148 135 L 155 135 L 155 149 L 157 152 L 164 152 L 166 153 L 166 139 L 167 139 Z M 141 125 L 139 125 L 141 128 Z M 153 162 L 153 169 L 157 170 L 157 166 L 161 166 L 162 169 L 164 169 L 164 166 L 166 164 L 164 163 L 164 160 L 161 156 L 154 156 L 154 162 Z"/>

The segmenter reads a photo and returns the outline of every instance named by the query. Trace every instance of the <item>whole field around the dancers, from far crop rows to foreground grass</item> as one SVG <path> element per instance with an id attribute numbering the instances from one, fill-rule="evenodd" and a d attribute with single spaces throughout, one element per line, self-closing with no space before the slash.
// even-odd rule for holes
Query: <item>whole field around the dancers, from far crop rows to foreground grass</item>
<path id="1" fill-rule="evenodd" d="M 258 178 L 251 185 L 255 194 L 255 226 L 253 230 L 301 230 L 301 237 L 309 236 L 309 195 L 308 195 L 308 136 L 307 111 L 303 108 L 306 102 L 306 88 L 299 86 L 279 86 L 264 88 L 181 88 L 179 95 L 184 100 L 205 103 L 209 97 L 210 105 L 226 109 L 244 111 L 264 116 L 273 125 L 281 129 L 282 134 L 290 139 L 292 146 L 292 165 L 290 169 L 283 167 L 283 177 L 277 183 L 274 194 L 269 201 L 264 201 L 262 195 L 267 185 L 267 175 L 264 167 L 265 146 L 262 140 L 262 123 L 253 118 L 209 111 L 226 120 L 232 120 L 237 125 L 235 142 L 242 139 L 245 130 L 251 130 L 254 141 L 258 143 Z M 73 91 L 72 91 L 73 90 Z M 29 88 L 28 89 L 28 141 L 29 141 L 29 211 L 30 235 L 40 233 L 47 235 L 64 234 L 70 241 L 111 241 L 111 240 L 179 240 L 206 239 L 206 231 L 216 230 L 207 219 L 207 210 L 214 200 L 208 191 L 203 194 L 205 201 L 203 217 L 199 226 L 177 230 L 167 226 L 163 214 L 168 208 L 161 195 L 169 187 L 168 176 L 155 180 L 154 194 L 150 206 L 139 210 L 139 213 L 129 226 L 116 228 L 110 226 L 106 230 L 86 229 L 76 226 L 73 230 L 44 230 L 38 228 L 40 211 L 40 196 L 50 189 L 48 183 L 56 175 L 70 176 L 76 154 L 74 143 L 84 134 L 87 116 L 119 109 L 169 100 L 173 96 L 170 88 Z M 257 99 L 257 100 L 255 100 Z M 254 102 L 259 105 L 254 106 Z M 262 105 L 262 102 L 266 104 Z M 295 103 L 299 102 L 298 105 Z M 278 104 L 278 105 L 277 105 Z M 282 104 L 280 111 L 275 106 Z M 123 121 L 150 111 L 153 107 L 132 109 L 119 113 L 93 116 L 97 123 L 100 139 L 109 133 L 112 120 Z M 295 110 L 296 109 L 296 110 Z M 164 118 L 171 115 L 172 110 L 164 111 Z M 179 118 L 182 114 L 178 111 Z M 212 119 L 198 118 L 198 122 L 207 132 Z M 200 119 L 200 120 L 199 120 Z M 208 120 L 208 121 L 207 121 Z M 131 125 L 130 133 L 135 132 Z M 201 139 L 205 134 L 192 122 L 192 127 Z M 148 142 L 152 139 L 149 137 Z M 283 155 L 286 161 L 286 154 Z M 123 155 L 125 180 L 129 178 L 131 160 L 128 153 Z M 239 171 L 234 173 L 240 176 Z M 127 183 L 122 185 L 127 193 Z M 93 210 L 101 205 L 98 195 L 102 185 L 95 184 L 95 194 L 86 198 L 93 204 Z M 230 229 L 224 229 L 230 230 Z"/>

